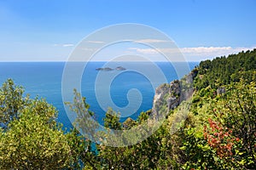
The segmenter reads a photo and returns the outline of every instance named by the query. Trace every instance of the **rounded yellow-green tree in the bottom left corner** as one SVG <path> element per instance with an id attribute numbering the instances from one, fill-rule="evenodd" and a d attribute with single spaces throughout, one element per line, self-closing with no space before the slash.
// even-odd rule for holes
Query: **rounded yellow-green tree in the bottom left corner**
<path id="1" fill-rule="evenodd" d="M 55 108 L 44 100 L 35 100 L 20 110 L 19 119 L 9 122 L 1 133 L 2 169 L 60 169 L 69 163 L 67 137 L 50 121 Z M 40 108 L 40 111 L 38 111 Z"/>

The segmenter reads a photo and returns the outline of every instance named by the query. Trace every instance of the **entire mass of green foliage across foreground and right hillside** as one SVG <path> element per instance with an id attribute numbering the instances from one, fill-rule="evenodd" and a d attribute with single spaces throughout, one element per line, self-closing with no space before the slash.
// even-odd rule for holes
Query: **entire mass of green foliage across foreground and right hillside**
<path id="1" fill-rule="evenodd" d="M 256 49 L 202 61 L 194 72 L 195 92 L 189 115 L 170 133 L 186 102 L 170 111 L 148 139 L 124 147 L 90 142 L 97 133 L 94 113 L 77 91 L 67 102 L 78 115 L 70 132 L 55 122 L 57 112 L 44 99 L 23 97 L 12 80 L 0 88 L 1 169 L 256 169 Z M 166 109 L 167 105 L 162 105 Z M 127 130 L 148 121 L 119 122 L 111 108 L 104 126 Z M 84 126 L 86 125 L 86 126 Z M 110 132 L 110 131 L 109 131 Z M 132 136 L 131 136 L 132 138 Z"/>

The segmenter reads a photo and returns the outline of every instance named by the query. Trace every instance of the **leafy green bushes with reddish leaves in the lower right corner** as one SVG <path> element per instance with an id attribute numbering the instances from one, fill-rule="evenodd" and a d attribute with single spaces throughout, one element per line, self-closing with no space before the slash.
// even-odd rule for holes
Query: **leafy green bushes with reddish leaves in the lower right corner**
<path id="1" fill-rule="evenodd" d="M 240 80 L 225 88 L 194 106 L 197 114 L 187 120 L 181 136 L 186 169 L 255 169 L 256 84 Z"/>

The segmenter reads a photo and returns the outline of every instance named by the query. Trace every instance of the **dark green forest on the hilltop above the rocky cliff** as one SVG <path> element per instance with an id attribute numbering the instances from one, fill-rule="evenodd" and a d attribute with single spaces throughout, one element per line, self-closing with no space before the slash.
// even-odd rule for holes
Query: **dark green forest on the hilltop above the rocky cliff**
<path id="1" fill-rule="evenodd" d="M 247 82 L 253 81 L 256 71 L 256 48 L 253 51 L 230 54 L 215 59 L 201 61 L 198 67 L 196 88 L 218 88 L 230 82 L 239 82 L 243 77 Z"/>

